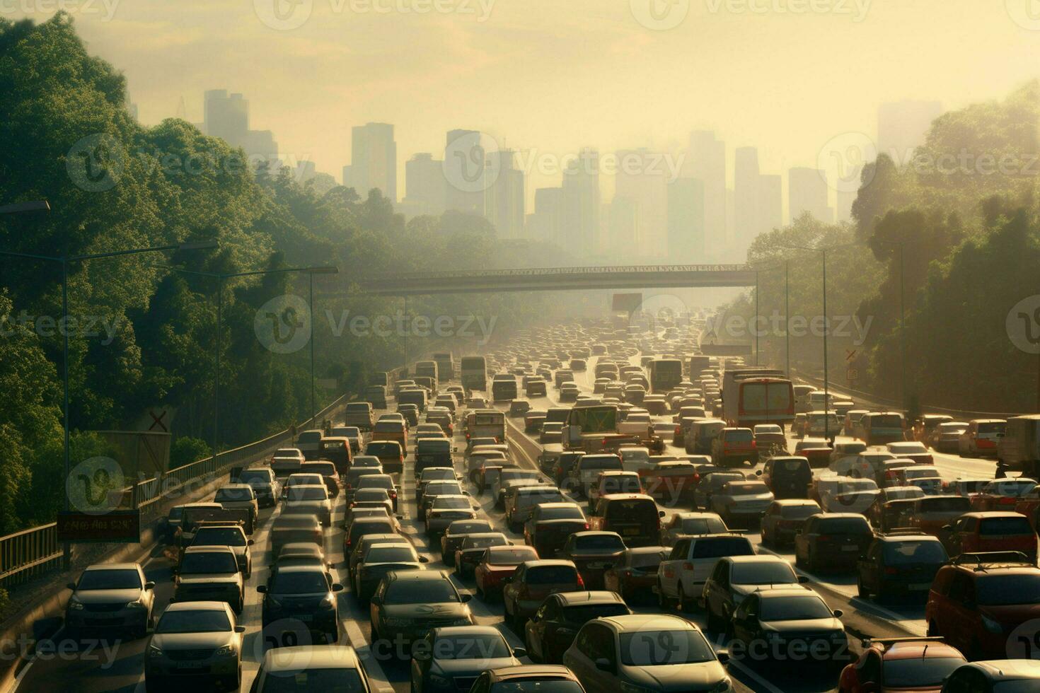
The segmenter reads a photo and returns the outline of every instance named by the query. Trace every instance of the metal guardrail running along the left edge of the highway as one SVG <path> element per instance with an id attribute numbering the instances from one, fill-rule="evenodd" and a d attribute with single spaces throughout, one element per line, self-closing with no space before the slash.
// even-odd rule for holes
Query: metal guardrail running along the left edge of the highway
<path id="1" fill-rule="evenodd" d="M 318 411 L 313 419 L 303 422 L 300 431 L 314 427 L 322 419 L 346 403 L 346 395 Z M 126 489 L 130 507 L 140 509 L 141 521 L 151 521 L 160 510 L 159 501 L 183 492 L 185 487 L 200 479 L 213 479 L 232 467 L 262 459 L 289 442 L 289 429 L 269 435 L 233 450 L 170 470 L 159 477 L 146 479 L 132 488 Z M 0 586 L 8 587 L 38 577 L 60 567 L 63 556 L 61 542 L 57 539 L 57 524 L 15 532 L 0 537 Z"/>

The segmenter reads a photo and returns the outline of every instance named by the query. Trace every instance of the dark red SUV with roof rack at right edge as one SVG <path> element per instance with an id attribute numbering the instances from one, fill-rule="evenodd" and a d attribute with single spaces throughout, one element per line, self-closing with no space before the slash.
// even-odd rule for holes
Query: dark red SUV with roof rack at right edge
<path id="1" fill-rule="evenodd" d="M 962 554 L 935 576 L 925 607 L 930 636 L 972 660 L 1008 657 L 1009 635 L 1037 617 L 1040 567 L 1019 552 Z"/>

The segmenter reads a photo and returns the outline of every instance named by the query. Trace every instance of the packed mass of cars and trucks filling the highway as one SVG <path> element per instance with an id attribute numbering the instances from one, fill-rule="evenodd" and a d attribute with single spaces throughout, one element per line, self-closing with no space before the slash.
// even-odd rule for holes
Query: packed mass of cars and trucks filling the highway
<path id="1" fill-rule="evenodd" d="M 378 374 L 83 570 L 61 637 L 119 647 L 19 690 L 1040 691 L 1040 416 L 908 420 L 703 324 Z"/>

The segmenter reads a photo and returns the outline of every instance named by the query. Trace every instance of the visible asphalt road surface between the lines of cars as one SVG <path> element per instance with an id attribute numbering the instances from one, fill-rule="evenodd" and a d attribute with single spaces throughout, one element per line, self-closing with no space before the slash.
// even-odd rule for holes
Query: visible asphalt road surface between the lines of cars
<path id="1" fill-rule="evenodd" d="M 582 391 L 590 392 L 592 390 L 591 373 L 595 362 L 595 358 L 590 362 L 588 372 L 576 374 L 577 384 Z M 551 389 L 548 397 L 531 400 L 534 408 L 546 408 L 558 404 Z M 390 406 L 393 404 L 391 403 Z M 522 427 L 518 427 L 515 422 L 511 422 L 510 427 L 514 461 L 522 467 L 534 468 L 541 446 L 535 438 L 525 434 Z M 439 562 L 439 552 L 430 551 L 431 548 L 422 526 L 416 519 L 414 479 L 411 467 L 414 450 L 409 452 L 409 460 L 399 478 L 401 506 L 398 512 L 404 516 L 401 524 L 420 554 L 431 560 L 428 569 L 446 569 Z M 463 469 L 462 460 L 457 458 L 456 465 L 461 472 Z M 994 471 L 992 462 L 965 460 L 952 455 L 936 455 L 936 465 L 939 467 L 944 477 L 951 479 L 959 476 L 991 477 Z M 522 535 L 509 530 L 503 514 L 495 509 L 492 498 L 478 496 L 475 487 L 470 487 L 470 492 L 479 502 L 479 514 L 483 517 L 490 519 L 515 541 L 522 542 Z M 670 514 L 690 508 L 662 506 L 661 509 L 666 514 Z M 340 497 L 337 499 L 334 509 L 333 526 L 326 532 L 326 551 L 333 564 L 333 577 L 345 587 L 339 595 L 340 642 L 349 643 L 358 649 L 376 688 L 392 688 L 397 693 L 407 691 L 410 689 L 409 663 L 376 657 L 369 648 L 368 613 L 354 597 L 346 571 L 342 567 L 343 513 L 344 506 Z M 239 619 L 239 622 L 246 628 L 243 641 L 242 690 L 249 690 L 252 685 L 259 662 L 267 646 L 261 633 L 261 604 L 256 587 L 264 584 L 267 579 L 270 560 L 266 551 L 267 534 L 277 514 L 278 510 L 262 511 L 260 523 L 253 536 L 255 540 L 254 570 L 248 581 L 245 607 Z M 759 544 L 757 532 L 749 532 L 748 536 L 753 543 Z M 758 549 L 763 553 L 776 553 L 760 545 Z M 779 552 L 779 555 L 794 562 L 791 553 Z M 162 609 L 168 604 L 174 589 L 171 572 L 174 565 L 172 554 L 160 548 L 142 556 L 141 562 L 148 579 L 156 583 L 156 606 L 158 609 Z M 842 621 L 850 632 L 850 642 L 854 651 L 858 651 L 860 648 L 859 636 L 924 635 L 922 605 L 886 605 L 882 607 L 856 596 L 856 584 L 853 577 L 801 572 L 809 578 L 810 586 L 820 591 L 833 609 L 840 609 L 843 612 Z M 473 591 L 471 581 L 460 581 L 454 576 L 451 579 L 457 582 L 460 588 Z M 503 623 L 500 604 L 485 604 L 479 598 L 474 598 L 470 602 L 470 606 L 479 623 L 493 624 L 505 634 L 511 643 L 514 645 L 522 644 L 522 634 L 513 633 Z M 632 606 L 638 611 L 657 611 L 657 607 L 649 601 L 646 605 Z M 688 617 L 705 629 L 709 638 L 718 646 L 725 646 L 721 634 L 707 631 L 705 618 L 702 615 L 694 614 Z M 106 646 L 101 647 L 92 646 L 89 642 L 75 645 L 67 641 L 64 635 L 63 631 L 59 631 L 53 639 L 53 650 L 59 655 L 41 655 L 32 660 L 21 672 L 16 690 L 22 693 L 36 691 L 75 691 L 76 693 L 122 691 L 130 693 L 145 690 L 144 658 L 147 639 L 105 643 Z M 45 645 L 45 648 L 49 649 L 50 644 Z M 740 691 L 816 693 L 832 690 L 837 678 L 835 669 L 823 666 L 769 667 L 747 661 L 733 661 L 730 663 L 729 669 L 734 685 Z"/>

